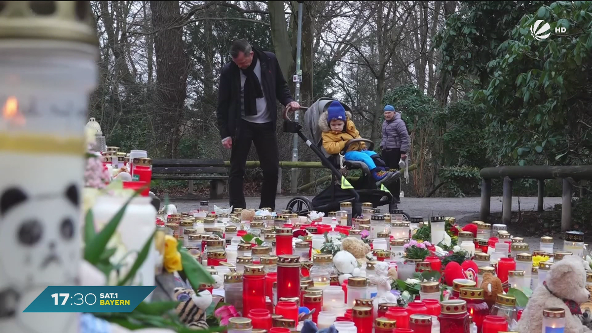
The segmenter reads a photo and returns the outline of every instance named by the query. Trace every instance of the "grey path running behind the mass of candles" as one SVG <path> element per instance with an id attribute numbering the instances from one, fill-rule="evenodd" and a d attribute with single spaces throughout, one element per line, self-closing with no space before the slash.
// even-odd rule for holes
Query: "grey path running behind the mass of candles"
<path id="1" fill-rule="evenodd" d="M 292 197 L 278 196 L 276 198 L 276 210 L 285 209 L 288 201 Z M 312 197 L 310 197 L 312 199 Z M 519 199 L 520 199 L 520 210 L 529 211 L 536 210 L 536 197 L 513 197 L 512 198 L 512 211 L 517 212 L 519 210 Z M 561 203 L 561 197 L 546 197 L 545 198 L 545 209 L 551 209 L 555 204 Z M 178 212 L 188 212 L 191 209 L 198 209 L 200 206 L 199 200 L 175 200 L 170 199 L 170 203 L 175 204 Z M 247 207 L 259 207 L 259 198 L 246 198 Z M 228 199 L 221 200 L 210 200 L 210 204 L 213 206 L 228 207 Z M 453 216 L 456 217 L 456 222 L 459 225 L 465 225 L 474 220 L 479 219 L 479 212 L 481 206 L 481 198 L 470 197 L 470 198 L 401 198 L 401 204 L 398 207 L 404 212 L 410 214 L 410 216 L 423 216 L 424 219 L 428 216 L 440 215 L 440 216 Z M 381 207 L 386 210 L 387 206 Z M 491 197 L 491 213 L 501 212 L 501 197 Z M 530 245 L 530 251 L 539 248 L 539 237 L 532 237 L 528 235 L 514 235 L 525 238 L 525 241 Z M 556 240 L 555 248 L 561 249 L 563 242 Z"/>

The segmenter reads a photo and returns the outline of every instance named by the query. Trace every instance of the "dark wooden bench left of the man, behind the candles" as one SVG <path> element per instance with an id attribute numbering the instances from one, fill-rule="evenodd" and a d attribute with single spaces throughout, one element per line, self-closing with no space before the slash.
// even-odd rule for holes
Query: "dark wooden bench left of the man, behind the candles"
<path id="1" fill-rule="evenodd" d="M 153 159 L 152 179 L 188 180 L 194 194 L 194 180 L 210 181 L 210 199 L 221 199 L 228 170 L 221 159 Z"/>

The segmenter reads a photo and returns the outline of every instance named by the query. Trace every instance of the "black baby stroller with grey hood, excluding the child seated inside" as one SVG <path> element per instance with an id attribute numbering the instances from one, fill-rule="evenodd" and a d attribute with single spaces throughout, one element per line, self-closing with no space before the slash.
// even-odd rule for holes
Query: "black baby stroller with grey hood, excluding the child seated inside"
<path id="1" fill-rule="evenodd" d="M 377 188 L 376 182 L 366 164 L 357 161 L 343 161 L 343 167 L 346 170 L 362 170 L 362 176 L 357 181 L 350 182 L 346 180 L 346 177 L 340 171 L 342 166 L 340 155 L 330 155 L 323 148 L 322 131 L 318 128 L 318 119 L 321 113 L 327 110 L 327 107 L 329 107 L 332 101 L 336 100 L 334 98 L 321 97 L 311 107 L 301 107 L 301 110 L 306 110 L 304 113 L 304 132 L 306 135 L 304 135 L 303 127 L 299 123 L 288 118 L 288 108 L 284 110 L 284 132 L 296 133 L 316 153 L 321 160 L 321 164 L 332 171 L 329 187 L 317 194 L 312 201 L 304 196 L 292 198 L 288 201 L 286 209 L 300 216 L 305 216 L 312 210 L 324 212 L 327 216 L 329 212 L 339 211 L 340 203 L 349 201 L 352 203 L 353 217 L 358 217 L 362 214 L 362 203 L 366 202 L 372 203 L 373 207 L 388 204 L 390 212 L 397 210 L 397 205 L 394 204 L 392 194 L 384 186 Z M 352 111 L 348 105 L 343 103 L 342 105 L 346 111 Z M 368 150 L 374 149 L 374 142 L 371 140 L 353 139 L 346 143 L 342 155 L 355 142 L 365 142 Z M 400 213 L 403 213 L 403 216 L 407 220 L 409 219 L 408 214 L 404 212 Z"/>

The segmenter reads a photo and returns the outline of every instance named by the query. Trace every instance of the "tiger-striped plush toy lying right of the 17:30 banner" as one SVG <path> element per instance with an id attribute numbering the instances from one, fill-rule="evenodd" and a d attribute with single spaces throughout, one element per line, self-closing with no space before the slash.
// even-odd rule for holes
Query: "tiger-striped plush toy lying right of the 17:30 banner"
<path id="1" fill-rule="evenodd" d="M 199 295 L 192 289 L 176 287 L 175 299 L 181 303 L 176 308 L 182 323 L 191 329 L 208 329 L 206 310 L 212 303 L 213 297 L 209 290 L 203 290 Z"/>

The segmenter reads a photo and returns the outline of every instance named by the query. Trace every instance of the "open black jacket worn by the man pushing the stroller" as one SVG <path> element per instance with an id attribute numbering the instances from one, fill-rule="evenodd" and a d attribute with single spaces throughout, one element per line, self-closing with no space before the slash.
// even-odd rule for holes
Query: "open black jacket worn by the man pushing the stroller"
<path id="1" fill-rule="evenodd" d="M 261 89 L 265 94 L 267 108 L 274 123 L 277 123 L 278 109 L 275 100 L 282 105 L 288 105 L 294 101 L 290 94 L 288 84 L 279 68 L 278 58 L 271 52 L 260 52 L 253 48 L 261 62 Z M 240 112 L 240 69 L 236 63 L 230 61 L 222 68 L 220 85 L 218 86 L 218 130 L 220 137 L 236 136 L 237 129 L 242 119 Z"/>

